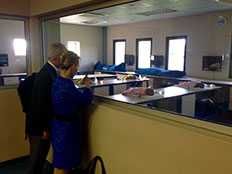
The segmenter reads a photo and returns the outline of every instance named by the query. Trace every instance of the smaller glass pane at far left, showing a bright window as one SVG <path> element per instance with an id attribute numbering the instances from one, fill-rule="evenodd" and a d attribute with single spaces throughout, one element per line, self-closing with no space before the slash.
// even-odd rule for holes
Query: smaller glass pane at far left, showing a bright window
<path id="1" fill-rule="evenodd" d="M 17 85 L 27 74 L 25 21 L 0 17 L 0 85 Z"/>

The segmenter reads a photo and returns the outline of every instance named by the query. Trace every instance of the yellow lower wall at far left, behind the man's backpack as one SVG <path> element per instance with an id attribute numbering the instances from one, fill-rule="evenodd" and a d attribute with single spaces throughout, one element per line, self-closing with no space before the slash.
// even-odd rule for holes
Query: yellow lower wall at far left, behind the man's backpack
<path id="1" fill-rule="evenodd" d="M 28 154 L 24 118 L 16 89 L 0 90 L 0 162 Z"/>

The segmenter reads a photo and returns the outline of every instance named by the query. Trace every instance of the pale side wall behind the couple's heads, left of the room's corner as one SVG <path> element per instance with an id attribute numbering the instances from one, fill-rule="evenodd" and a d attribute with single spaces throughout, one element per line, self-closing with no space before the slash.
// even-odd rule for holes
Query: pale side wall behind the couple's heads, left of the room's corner
<path id="1" fill-rule="evenodd" d="M 80 71 L 92 71 L 95 63 L 103 58 L 102 27 L 60 24 L 61 42 L 80 42 Z"/>

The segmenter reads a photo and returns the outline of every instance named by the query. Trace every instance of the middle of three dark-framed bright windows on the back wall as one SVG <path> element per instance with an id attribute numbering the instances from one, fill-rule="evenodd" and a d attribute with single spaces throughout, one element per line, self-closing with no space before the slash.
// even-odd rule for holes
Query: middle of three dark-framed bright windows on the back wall
<path id="1" fill-rule="evenodd" d="M 136 68 L 151 67 L 152 38 L 136 40 Z"/>

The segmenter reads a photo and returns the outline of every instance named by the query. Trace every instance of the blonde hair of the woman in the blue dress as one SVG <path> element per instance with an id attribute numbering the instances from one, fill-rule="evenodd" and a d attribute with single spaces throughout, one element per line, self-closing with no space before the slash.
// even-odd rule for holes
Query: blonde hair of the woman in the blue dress
<path id="1" fill-rule="evenodd" d="M 79 65 L 80 57 L 72 51 L 65 53 L 60 60 L 60 68 L 63 70 L 69 69 L 73 64 Z"/>

